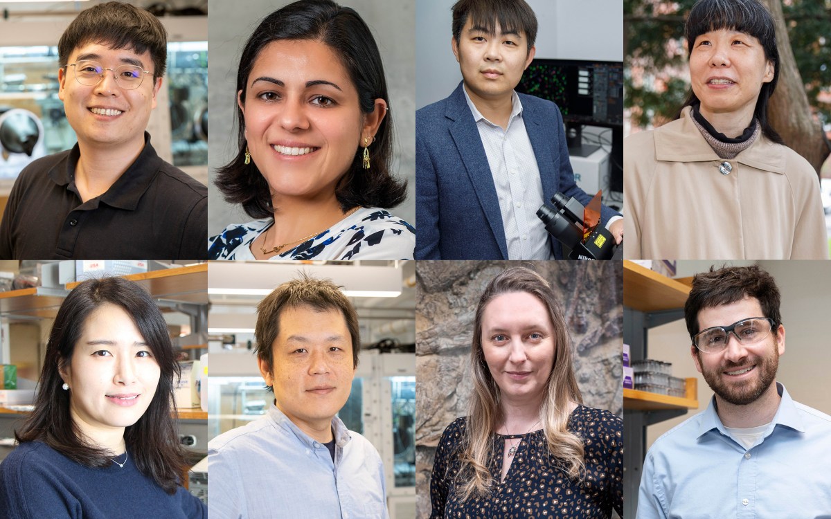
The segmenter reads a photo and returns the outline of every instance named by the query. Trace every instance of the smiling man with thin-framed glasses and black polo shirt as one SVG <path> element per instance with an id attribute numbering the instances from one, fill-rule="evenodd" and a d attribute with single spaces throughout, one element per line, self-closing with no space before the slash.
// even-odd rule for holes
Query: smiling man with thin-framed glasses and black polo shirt
<path id="1" fill-rule="evenodd" d="M 155 153 L 145 129 L 167 32 L 139 7 L 82 11 L 58 43 L 78 142 L 22 170 L 0 223 L 2 259 L 200 259 L 208 190 Z"/>

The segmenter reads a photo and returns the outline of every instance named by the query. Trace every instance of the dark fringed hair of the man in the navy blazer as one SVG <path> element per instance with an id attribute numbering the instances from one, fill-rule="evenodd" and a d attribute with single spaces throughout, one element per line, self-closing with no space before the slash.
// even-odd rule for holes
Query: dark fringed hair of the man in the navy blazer
<path id="1" fill-rule="evenodd" d="M 496 34 L 496 24 L 502 32 L 524 32 L 528 50 L 537 40 L 537 17 L 525 0 L 459 0 L 453 6 L 453 37 L 456 45 L 468 18 L 473 27 L 482 27 L 491 36 Z"/>

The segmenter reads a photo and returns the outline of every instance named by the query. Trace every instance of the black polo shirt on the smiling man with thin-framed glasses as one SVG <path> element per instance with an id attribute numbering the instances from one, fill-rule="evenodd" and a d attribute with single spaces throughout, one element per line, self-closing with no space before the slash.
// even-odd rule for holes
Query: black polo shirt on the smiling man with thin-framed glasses
<path id="1" fill-rule="evenodd" d="M 106 193 L 81 202 L 78 144 L 22 170 L 0 223 L 0 259 L 203 259 L 208 189 L 150 145 Z"/>

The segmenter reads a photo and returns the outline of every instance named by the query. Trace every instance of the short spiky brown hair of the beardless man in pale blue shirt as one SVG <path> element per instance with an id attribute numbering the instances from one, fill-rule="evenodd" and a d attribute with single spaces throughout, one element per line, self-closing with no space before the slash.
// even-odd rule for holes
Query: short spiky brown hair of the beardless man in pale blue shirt
<path id="1" fill-rule="evenodd" d="M 358 353 L 361 351 L 361 333 L 358 329 L 358 314 L 355 306 L 329 279 L 315 279 L 302 274 L 298 279 L 285 282 L 275 288 L 257 305 L 257 328 L 254 340 L 257 343 L 257 357 L 273 369 L 273 344 L 280 333 L 280 315 L 287 308 L 309 306 L 315 311 L 340 311 L 347 321 L 349 336 L 352 338 L 352 367 L 358 367 Z M 270 386 L 269 386 L 270 387 Z"/>

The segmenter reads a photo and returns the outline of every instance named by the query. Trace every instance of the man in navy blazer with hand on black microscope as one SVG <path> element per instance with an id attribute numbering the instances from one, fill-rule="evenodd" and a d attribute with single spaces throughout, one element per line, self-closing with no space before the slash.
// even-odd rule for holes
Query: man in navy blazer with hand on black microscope
<path id="1" fill-rule="evenodd" d="M 451 45 L 460 85 L 416 111 L 416 259 L 560 259 L 536 211 L 554 193 L 586 205 L 563 117 L 514 87 L 534 59 L 537 21 L 524 0 L 460 0 Z M 619 213 L 601 223 L 622 240 Z M 507 232 L 506 232 L 507 231 Z"/>

